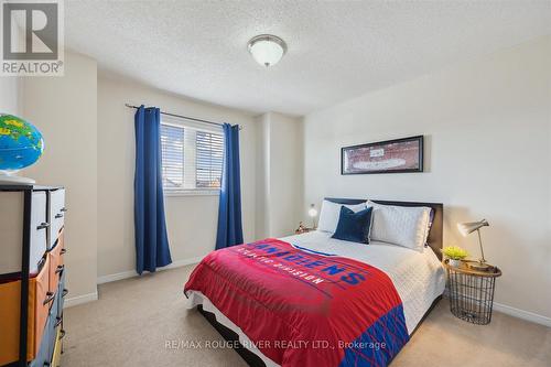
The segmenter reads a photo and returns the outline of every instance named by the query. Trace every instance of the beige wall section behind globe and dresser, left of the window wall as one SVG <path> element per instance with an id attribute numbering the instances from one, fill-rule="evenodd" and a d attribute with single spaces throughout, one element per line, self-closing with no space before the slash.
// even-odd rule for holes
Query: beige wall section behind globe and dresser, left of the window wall
<path id="1" fill-rule="evenodd" d="M 71 299 L 97 296 L 97 65 L 65 53 L 65 76 L 22 78 L 22 117 L 44 136 L 41 160 L 23 174 L 66 187 Z"/>

